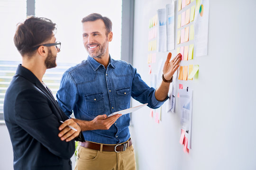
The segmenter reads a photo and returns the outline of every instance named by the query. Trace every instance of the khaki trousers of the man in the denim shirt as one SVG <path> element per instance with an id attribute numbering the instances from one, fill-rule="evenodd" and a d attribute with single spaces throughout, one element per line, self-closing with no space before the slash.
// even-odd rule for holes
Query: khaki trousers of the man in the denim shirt
<path id="1" fill-rule="evenodd" d="M 119 153 L 77 147 L 75 170 L 136 170 L 133 145 Z"/>

